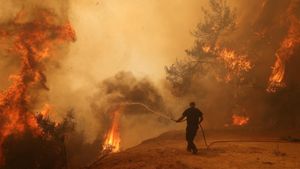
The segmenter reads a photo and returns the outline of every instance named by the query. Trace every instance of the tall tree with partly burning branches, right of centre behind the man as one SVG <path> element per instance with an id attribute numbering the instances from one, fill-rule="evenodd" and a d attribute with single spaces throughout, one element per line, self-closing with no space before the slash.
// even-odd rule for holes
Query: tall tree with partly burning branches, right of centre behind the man
<path id="1" fill-rule="evenodd" d="M 194 46 L 186 50 L 187 57 L 166 67 L 167 80 L 172 85 L 173 93 L 182 96 L 193 83 L 210 79 L 221 86 L 234 86 L 231 110 L 241 106 L 241 86 L 248 84 L 247 73 L 253 68 L 246 52 L 226 47 L 226 37 L 236 29 L 236 11 L 230 8 L 226 0 L 210 0 L 209 10 L 202 9 L 203 22 L 194 32 Z M 232 46 L 232 45 L 231 45 Z M 198 83 L 199 84 L 199 83 Z M 203 93 L 201 95 L 204 95 Z M 233 113 L 241 113 L 241 110 Z M 245 112 L 243 116 L 245 116 Z"/>

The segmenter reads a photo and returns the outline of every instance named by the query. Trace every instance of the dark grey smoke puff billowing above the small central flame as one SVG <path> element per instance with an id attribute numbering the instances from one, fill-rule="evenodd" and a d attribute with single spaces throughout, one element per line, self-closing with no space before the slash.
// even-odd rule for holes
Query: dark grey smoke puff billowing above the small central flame
<path id="1" fill-rule="evenodd" d="M 124 103 L 143 103 L 156 111 L 164 111 L 165 105 L 162 95 L 158 89 L 147 78 L 138 79 L 130 72 L 119 72 L 112 78 L 104 80 L 99 85 L 99 91 L 96 93 L 92 101 L 93 106 L 118 106 Z M 99 101 L 104 101 L 99 102 Z M 125 112 L 141 112 L 145 113 L 141 106 L 127 106 Z M 148 112 L 150 113 L 150 112 Z"/>

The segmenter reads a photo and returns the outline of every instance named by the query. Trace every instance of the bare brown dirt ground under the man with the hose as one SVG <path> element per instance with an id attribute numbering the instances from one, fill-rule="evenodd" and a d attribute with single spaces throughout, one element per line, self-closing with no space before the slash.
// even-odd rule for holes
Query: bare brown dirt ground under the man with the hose
<path id="1" fill-rule="evenodd" d="M 298 134 L 297 134 L 298 133 Z M 217 140 L 300 138 L 300 131 L 208 131 L 208 143 Z M 94 164 L 92 169 L 300 169 L 299 143 L 232 142 L 205 148 L 198 132 L 200 151 L 186 151 L 184 131 L 170 131 L 138 146 L 113 153 Z"/>

